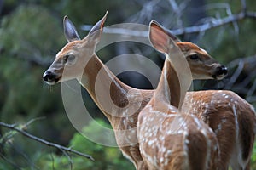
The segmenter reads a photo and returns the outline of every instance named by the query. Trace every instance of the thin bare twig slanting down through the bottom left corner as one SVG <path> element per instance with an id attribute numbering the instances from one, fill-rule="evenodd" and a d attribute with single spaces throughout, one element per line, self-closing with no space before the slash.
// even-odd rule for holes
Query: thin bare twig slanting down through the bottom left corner
<path id="1" fill-rule="evenodd" d="M 85 157 L 85 158 L 90 159 L 91 161 L 94 161 L 94 159 L 93 159 L 92 156 L 86 155 L 86 154 L 84 154 L 84 153 L 81 153 L 81 152 L 79 152 L 79 151 L 77 151 L 77 150 L 73 150 L 73 149 L 71 149 L 71 148 L 67 148 L 67 147 L 65 147 L 65 146 L 61 146 L 60 144 L 55 144 L 55 143 L 51 143 L 51 142 L 49 142 L 49 141 L 47 141 L 47 140 L 40 139 L 40 138 L 38 138 L 38 137 L 32 135 L 31 133 L 26 133 L 26 131 L 24 131 L 24 130 L 18 128 L 18 127 L 16 127 L 15 124 L 7 124 L 7 123 L 4 123 L 4 122 L 0 122 L 0 126 L 6 127 L 6 128 L 9 128 L 9 129 L 12 129 L 12 130 L 15 130 L 16 132 L 18 132 L 18 133 L 20 133 L 20 134 L 22 134 L 22 135 L 24 135 L 24 136 L 26 136 L 26 137 L 28 137 L 28 138 L 30 138 L 30 139 L 33 139 L 33 140 L 35 140 L 35 141 L 38 141 L 38 142 L 40 142 L 40 143 L 42 143 L 42 144 L 46 144 L 46 145 L 49 145 L 49 146 L 51 146 L 51 147 L 55 147 L 55 148 L 57 148 L 57 149 L 59 149 L 59 150 L 61 150 L 61 151 L 71 152 L 71 153 L 76 154 L 76 155 L 78 155 L 78 156 L 83 156 L 83 157 Z M 65 152 L 64 152 L 64 154 L 66 155 Z"/>

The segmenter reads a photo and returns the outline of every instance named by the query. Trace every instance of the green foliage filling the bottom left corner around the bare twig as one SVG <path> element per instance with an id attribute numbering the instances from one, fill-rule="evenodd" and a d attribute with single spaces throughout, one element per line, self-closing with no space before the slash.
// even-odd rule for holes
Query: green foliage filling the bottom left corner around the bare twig
<path id="1" fill-rule="evenodd" d="M 111 128 L 102 119 L 98 119 L 96 122 L 103 127 Z M 83 132 L 100 134 L 101 128 L 95 125 L 95 123 L 90 122 L 87 127 L 84 127 Z M 18 142 L 22 144 L 17 144 Z M 37 144 L 29 139 L 25 140 L 19 133 L 15 133 L 14 131 L 4 133 L 3 138 L 0 139 L 0 144 L 3 146 L 2 153 L 4 153 L 4 157 L 8 160 L 0 161 L 0 169 L 11 169 L 13 167 L 22 167 L 23 169 L 40 167 L 43 170 L 69 168 L 73 168 L 74 170 L 133 169 L 132 163 L 122 156 L 118 148 L 93 143 L 80 133 L 74 133 L 69 147 L 93 156 L 95 161 L 87 160 L 81 156 L 67 155 L 66 152 L 58 153 L 55 149 L 47 148 L 43 144 Z M 29 144 L 34 149 L 37 148 L 37 151 L 26 150 L 26 144 Z M 15 156 L 12 156 L 14 154 Z M 1 154 L 0 156 L 3 155 Z"/>

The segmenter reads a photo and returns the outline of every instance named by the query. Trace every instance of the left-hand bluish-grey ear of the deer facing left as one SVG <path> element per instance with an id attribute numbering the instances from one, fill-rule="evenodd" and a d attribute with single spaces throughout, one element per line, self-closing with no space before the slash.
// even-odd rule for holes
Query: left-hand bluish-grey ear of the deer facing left
<path id="1" fill-rule="evenodd" d="M 73 42 L 80 39 L 75 26 L 73 26 L 73 23 L 67 18 L 67 16 L 63 19 L 63 27 L 67 42 Z"/>

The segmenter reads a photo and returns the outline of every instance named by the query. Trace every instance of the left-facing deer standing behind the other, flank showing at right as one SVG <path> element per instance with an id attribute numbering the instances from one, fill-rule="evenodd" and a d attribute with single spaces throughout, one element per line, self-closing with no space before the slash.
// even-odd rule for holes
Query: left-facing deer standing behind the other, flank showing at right
<path id="1" fill-rule="evenodd" d="M 96 55 L 96 44 L 100 42 L 106 17 L 107 14 L 92 27 L 86 37 L 80 39 L 75 26 L 65 16 L 63 26 L 67 44 L 56 54 L 55 60 L 44 72 L 43 79 L 49 85 L 77 79 L 81 86 L 89 92 L 102 113 L 108 118 L 123 155 L 134 164 L 136 169 L 148 169 L 137 143 L 137 117 L 139 112 L 154 96 L 154 90 L 131 88 L 119 81 Z M 180 44 L 182 43 L 184 42 L 180 42 Z M 212 76 L 212 79 L 217 79 L 218 74 L 223 74 L 225 71 L 222 65 L 218 65 L 213 69 L 211 62 L 208 62 L 208 60 L 212 60 L 208 54 L 198 59 L 201 62 L 192 62 L 192 58 L 196 58 L 195 56 L 186 55 L 186 58 L 191 63 L 189 66 L 192 72 L 194 68 L 198 69 L 198 73 L 207 70 L 207 74 Z M 85 66 L 86 63 L 88 64 Z M 79 67 L 83 67 L 82 74 L 81 71 L 78 71 Z M 64 68 L 67 74 L 69 73 L 66 77 L 62 75 Z M 216 71 L 216 68 L 218 68 L 218 71 Z M 111 95 L 114 105 L 118 105 L 120 108 L 124 107 L 125 111 L 106 109 L 102 102 L 96 98 L 95 82 L 99 72 L 102 74 L 100 88 Z M 106 85 L 108 82 L 111 82 L 110 87 Z M 140 102 L 139 106 L 136 105 L 137 101 Z M 216 133 L 221 161 L 229 162 L 235 167 L 249 167 L 254 141 L 255 116 L 253 107 L 247 101 L 231 91 L 187 92 L 182 111 L 188 111 L 198 116 Z"/>

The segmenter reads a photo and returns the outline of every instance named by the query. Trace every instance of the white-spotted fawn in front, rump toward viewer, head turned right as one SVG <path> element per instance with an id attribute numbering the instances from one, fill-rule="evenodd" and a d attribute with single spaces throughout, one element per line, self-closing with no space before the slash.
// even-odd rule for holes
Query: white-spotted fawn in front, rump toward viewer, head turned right
<path id="1" fill-rule="evenodd" d="M 195 77 L 183 57 L 184 49 L 172 38 L 159 23 L 150 22 L 149 40 L 155 49 L 166 54 L 166 61 L 154 96 L 138 115 L 137 138 L 143 160 L 150 170 L 218 169 L 215 133 L 198 117 L 179 110 Z M 190 42 L 186 45 L 189 55 L 200 49 Z M 223 71 L 217 77 L 224 75 Z M 204 71 L 196 74 L 196 78 L 212 77 Z"/>

